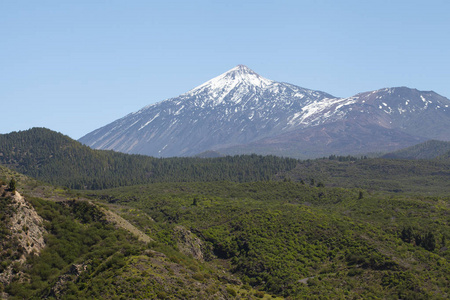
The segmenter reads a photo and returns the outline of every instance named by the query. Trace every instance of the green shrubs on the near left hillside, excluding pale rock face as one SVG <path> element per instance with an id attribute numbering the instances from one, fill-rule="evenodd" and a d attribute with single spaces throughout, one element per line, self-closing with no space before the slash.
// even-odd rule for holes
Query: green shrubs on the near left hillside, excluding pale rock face
<path id="1" fill-rule="evenodd" d="M 2 299 L 228 299 L 238 294 L 252 299 L 265 294 L 241 289 L 223 271 L 164 244 L 139 242 L 87 201 L 28 199 L 45 220 L 46 247 L 39 255 L 28 254 L 24 264 L 14 262 L 13 281 L 0 283 Z M 8 204 L 0 198 L 6 211 Z M 0 243 L 0 252 L 0 274 L 23 253 L 8 243 Z"/>

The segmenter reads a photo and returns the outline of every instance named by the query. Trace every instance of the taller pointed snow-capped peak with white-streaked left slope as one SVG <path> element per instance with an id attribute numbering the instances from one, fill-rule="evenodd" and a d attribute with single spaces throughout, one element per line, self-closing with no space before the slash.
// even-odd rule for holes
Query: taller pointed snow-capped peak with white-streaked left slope
<path id="1" fill-rule="evenodd" d="M 335 97 L 265 79 L 239 65 L 180 95 L 129 114 L 79 141 L 96 149 L 188 156 L 288 130 L 305 105 Z"/>

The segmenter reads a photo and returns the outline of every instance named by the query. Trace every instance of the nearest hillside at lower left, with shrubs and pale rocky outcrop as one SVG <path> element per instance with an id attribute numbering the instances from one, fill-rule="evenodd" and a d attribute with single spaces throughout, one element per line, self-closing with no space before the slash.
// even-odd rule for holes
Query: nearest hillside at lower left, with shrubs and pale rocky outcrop
<path id="1" fill-rule="evenodd" d="M 17 178 L 16 192 L 5 185 L 12 177 Z M 254 295 L 265 295 L 244 289 L 220 266 L 188 254 L 189 245 L 180 239 L 189 239 L 189 231 L 175 239 L 187 249 L 183 254 L 158 240 L 140 241 L 123 222 L 111 218 L 117 214 L 105 205 L 41 185 L 4 167 L 0 167 L 0 178 L 2 299 L 232 299 L 236 295 L 254 299 Z M 146 224 L 156 228 L 151 219 Z"/>

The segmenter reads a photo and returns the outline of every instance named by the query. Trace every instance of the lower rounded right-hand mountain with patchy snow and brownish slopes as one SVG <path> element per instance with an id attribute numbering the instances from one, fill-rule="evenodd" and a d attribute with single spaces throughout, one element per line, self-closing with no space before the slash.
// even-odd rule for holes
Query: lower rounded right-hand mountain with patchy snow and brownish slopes
<path id="1" fill-rule="evenodd" d="M 448 141 L 449 105 L 449 99 L 434 92 L 406 87 L 314 102 L 290 120 L 303 126 L 221 152 L 238 154 L 250 150 L 309 158 L 391 152 L 430 139 Z"/>

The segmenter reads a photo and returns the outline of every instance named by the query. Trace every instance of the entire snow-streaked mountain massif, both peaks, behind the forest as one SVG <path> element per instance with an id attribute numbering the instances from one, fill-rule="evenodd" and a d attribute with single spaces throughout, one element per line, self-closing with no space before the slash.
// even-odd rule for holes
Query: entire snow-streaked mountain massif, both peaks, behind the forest
<path id="1" fill-rule="evenodd" d="M 449 105 L 435 92 L 406 87 L 337 98 L 239 65 L 79 141 L 157 157 L 211 150 L 299 158 L 387 152 L 429 139 L 450 140 Z"/>

